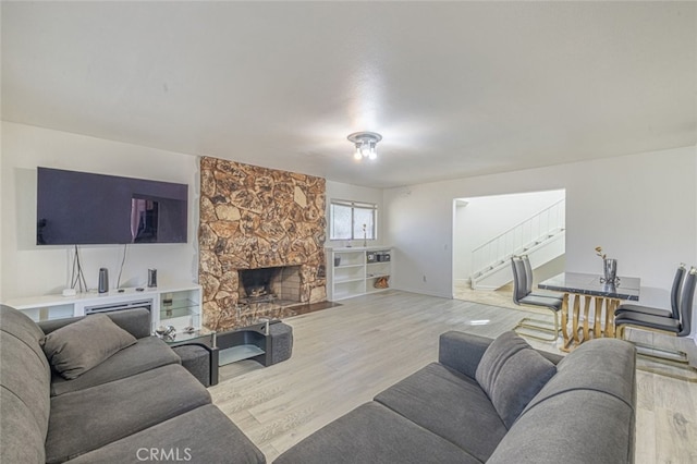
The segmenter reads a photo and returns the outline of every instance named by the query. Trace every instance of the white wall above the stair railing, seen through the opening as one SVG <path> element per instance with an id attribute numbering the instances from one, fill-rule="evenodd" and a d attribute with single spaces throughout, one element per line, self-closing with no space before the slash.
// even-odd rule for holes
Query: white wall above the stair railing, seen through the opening
<path id="1" fill-rule="evenodd" d="M 455 280 L 467 280 L 473 271 L 472 251 L 497 235 L 564 199 L 564 191 L 533 192 L 462 198 L 455 205 L 453 267 Z"/>

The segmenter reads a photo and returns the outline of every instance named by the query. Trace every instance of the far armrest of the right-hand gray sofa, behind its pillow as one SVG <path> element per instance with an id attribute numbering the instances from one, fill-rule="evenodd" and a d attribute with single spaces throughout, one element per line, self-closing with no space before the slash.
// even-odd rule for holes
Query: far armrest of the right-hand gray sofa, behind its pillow
<path id="1" fill-rule="evenodd" d="M 445 332 L 440 335 L 438 362 L 474 379 L 479 361 L 491 342 L 492 339 L 472 333 Z"/>

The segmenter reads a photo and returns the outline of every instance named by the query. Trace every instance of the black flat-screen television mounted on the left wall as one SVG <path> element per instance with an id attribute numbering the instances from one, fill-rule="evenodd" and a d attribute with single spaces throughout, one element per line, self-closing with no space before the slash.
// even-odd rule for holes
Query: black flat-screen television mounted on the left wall
<path id="1" fill-rule="evenodd" d="M 186 184 L 37 171 L 37 245 L 186 243 Z"/>

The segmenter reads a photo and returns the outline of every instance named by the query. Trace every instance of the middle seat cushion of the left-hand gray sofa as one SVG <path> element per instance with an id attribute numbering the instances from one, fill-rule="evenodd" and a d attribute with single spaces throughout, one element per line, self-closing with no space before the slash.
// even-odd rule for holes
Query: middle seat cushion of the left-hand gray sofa
<path id="1" fill-rule="evenodd" d="M 66 461 L 208 403 L 208 391 L 180 365 L 53 396 L 46 462 Z"/>

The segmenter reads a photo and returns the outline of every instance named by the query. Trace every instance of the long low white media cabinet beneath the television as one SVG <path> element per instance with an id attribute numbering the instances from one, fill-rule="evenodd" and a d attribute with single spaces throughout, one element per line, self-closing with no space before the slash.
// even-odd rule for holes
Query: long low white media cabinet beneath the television
<path id="1" fill-rule="evenodd" d="M 64 319 L 89 313 L 103 313 L 127 307 L 150 309 L 150 331 L 158 326 L 174 326 L 180 333 L 185 327 L 200 329 L 201 288 L 195 283 L 163 285 L 152 289 L 123 289 L 107 293 L 78 293 L 74 296 L 45 295 L 14 298 L 5 305 L 20 309 L 36 321 Z"/>

